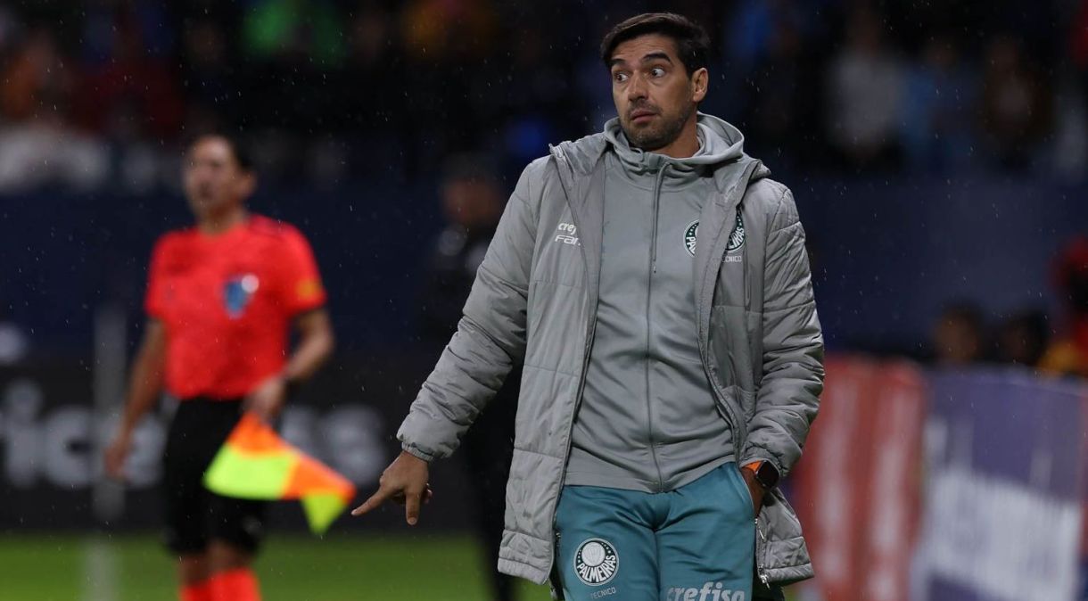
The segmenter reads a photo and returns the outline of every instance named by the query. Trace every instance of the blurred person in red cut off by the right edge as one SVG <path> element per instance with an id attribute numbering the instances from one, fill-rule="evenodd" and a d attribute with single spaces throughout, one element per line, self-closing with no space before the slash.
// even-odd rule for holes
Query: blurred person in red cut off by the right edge
<path id="1" fill-rule="evenodd" d="M 1067 304 L 1067 321 L 1039 368 L 1088 378 L 1088 236 L 1075 238 L 1062 250 L 1055 271 L 1058 289 Z"/>

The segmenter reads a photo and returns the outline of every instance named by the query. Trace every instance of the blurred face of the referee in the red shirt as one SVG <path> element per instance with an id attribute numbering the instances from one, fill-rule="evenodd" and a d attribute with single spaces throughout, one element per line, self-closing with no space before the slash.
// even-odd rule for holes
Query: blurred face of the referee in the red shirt
<path id="1" fill-rule="evenodd" d="M 220 137 L 197 140 L 185 161 L 185 196 L 197 218 L 221 213 L 254 192 L 254 175 L 238 164 Z"/>

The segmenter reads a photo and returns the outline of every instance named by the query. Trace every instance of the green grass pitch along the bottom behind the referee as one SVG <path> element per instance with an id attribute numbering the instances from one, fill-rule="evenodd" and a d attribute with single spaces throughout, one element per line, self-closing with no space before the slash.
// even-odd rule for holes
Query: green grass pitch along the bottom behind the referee
<path id="1" fill-rule="evenodd" d="M 256 567 L 265 601 L 489 601 L 469 536 L 273 535 Z M 151 535 L 0 535 L 0 600 L 174 599 L 174 563 Z M 547 599 L 521 585 L 521 601 Z"/>

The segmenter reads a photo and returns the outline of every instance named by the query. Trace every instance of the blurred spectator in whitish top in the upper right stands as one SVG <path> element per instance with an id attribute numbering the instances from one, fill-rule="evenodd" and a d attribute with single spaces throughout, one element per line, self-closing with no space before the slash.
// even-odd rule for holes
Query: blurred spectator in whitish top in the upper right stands
<path id="1" fill-rule="evenodd" d="M 828 137 L 853 167 L 899 163 L 903 68 L 883 30 L 880 16 L 860 4 L 849 17 L 846 46 L 827 72 Z"/>

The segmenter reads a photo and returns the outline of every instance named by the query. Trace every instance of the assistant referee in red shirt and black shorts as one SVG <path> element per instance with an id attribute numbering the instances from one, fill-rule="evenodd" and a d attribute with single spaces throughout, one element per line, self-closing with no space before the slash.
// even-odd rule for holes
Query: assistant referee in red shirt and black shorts
<path id="1" fill-rule="evenodd" d="M 302 235 L 250 214 L 257 184 L 232 139 L 189 148 L 185 194 L 196 226 L 162 236 L 151 257 L 144 340 L 107 471 L 123 476 L 132 434 L 160 391 L 178 400 L 163 454 L 166 543 L 177 556 L 182 601 L 256 601 L 249 566 L 263 504 L 203 488 L 205 469 L 243 412 L 264 420 L 333 348 L 325 293 Z M 298 345 L 287 356 L 292 326 Z"/>

